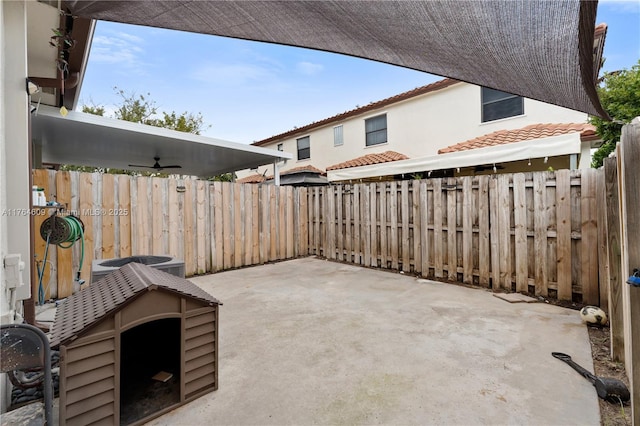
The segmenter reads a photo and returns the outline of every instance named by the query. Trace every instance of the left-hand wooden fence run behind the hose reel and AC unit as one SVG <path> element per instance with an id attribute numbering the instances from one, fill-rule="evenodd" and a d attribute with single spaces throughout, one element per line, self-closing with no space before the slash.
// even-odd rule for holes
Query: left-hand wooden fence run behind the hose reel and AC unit
<path id="1" fill-rule="evenodd" d="M 94 259 L 168 254 L 190 276 L 307 254 L 304 188 L 51 170 L 35 170 L 33 183 L 84 223 L 87 282 Z M 37 260 L 48 214 L 33 216 Z M 79 243 L 50 247 L 47 299 L 72 294 L 79 260 Z"/>

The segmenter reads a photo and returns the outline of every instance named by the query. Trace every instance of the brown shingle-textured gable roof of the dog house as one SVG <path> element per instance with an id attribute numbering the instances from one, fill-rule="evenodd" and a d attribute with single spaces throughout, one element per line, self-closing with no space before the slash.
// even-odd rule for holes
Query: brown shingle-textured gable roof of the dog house
<path id="1" fill-rule="evenodd" d="M 129 263 L 85 290 L 75 293 L 58 307 L 52 328 L 51 346 L 77 337 L 87 327 L 152 290 L 187 296 L 205 306 L 222 305 L 191 281 L 147 265 Z"/>

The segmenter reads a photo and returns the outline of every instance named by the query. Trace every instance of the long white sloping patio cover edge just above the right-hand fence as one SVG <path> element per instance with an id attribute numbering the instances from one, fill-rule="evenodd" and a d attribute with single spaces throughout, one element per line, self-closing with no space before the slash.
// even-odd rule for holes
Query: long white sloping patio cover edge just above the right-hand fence
<path id="1" fill-rule="evenodd" d="M 378 176 L 420 173 L 429 170 L 446 170 L 457 167 L 472 167 L 484 164 L 529 160 L 532 158 L 580 154 L 581 144 L 580 133 L 576 132 L 487 148 L 392 161 L 371 166 L 328 170 L 327 178 L 330 182 L 367 179 Z"/>

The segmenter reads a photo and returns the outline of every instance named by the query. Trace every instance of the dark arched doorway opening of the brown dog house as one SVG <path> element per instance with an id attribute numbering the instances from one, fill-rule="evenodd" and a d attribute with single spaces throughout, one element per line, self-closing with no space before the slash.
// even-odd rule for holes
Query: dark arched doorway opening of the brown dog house
<path id="1" fill-rule="evenodd" d="M 180 403 L 180 319 L 151 321 L 121 334 L 120 424 Z"/>

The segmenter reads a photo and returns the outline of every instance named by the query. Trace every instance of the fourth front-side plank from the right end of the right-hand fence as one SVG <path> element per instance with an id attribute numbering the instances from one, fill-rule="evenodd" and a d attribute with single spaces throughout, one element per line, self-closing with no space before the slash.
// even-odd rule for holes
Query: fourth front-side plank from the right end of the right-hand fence
<path id="1" fill-rule="evenodd" d="M 529 254 L 527 252 L 527 201 L 524 173 L 513 175 L 513 213 L 516 250 L 516 291 L 529 290 Z"/>

